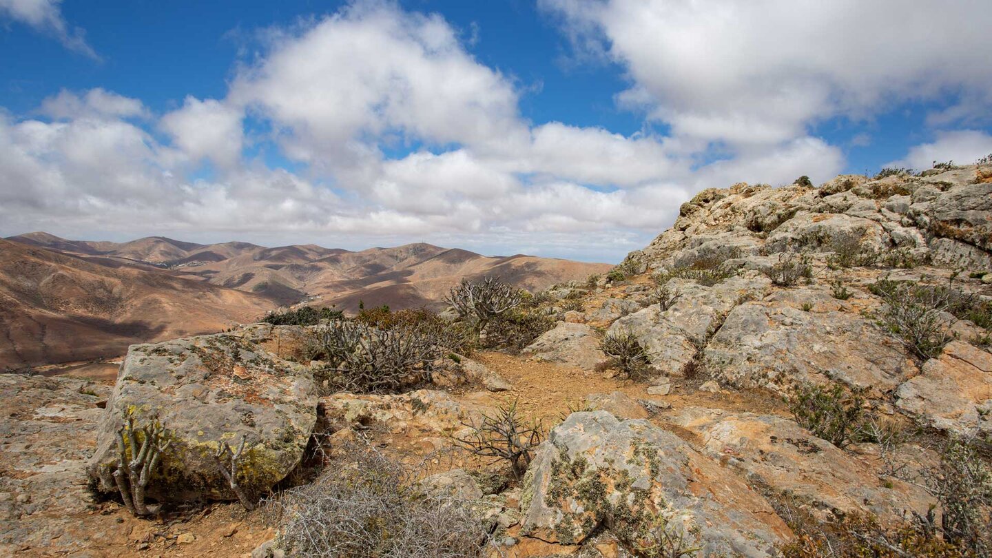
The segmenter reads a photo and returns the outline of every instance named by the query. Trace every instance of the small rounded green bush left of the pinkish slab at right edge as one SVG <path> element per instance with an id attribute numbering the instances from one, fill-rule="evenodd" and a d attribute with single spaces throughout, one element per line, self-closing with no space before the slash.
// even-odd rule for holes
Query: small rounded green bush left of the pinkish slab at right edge
<path id="1" fill-rule="evenodd" d="M 829 386 L 802 384 L 788 398 L 796 422 L 838 448 L 859 439 L 866 419 L 864 391 L 840 382 Z"/>

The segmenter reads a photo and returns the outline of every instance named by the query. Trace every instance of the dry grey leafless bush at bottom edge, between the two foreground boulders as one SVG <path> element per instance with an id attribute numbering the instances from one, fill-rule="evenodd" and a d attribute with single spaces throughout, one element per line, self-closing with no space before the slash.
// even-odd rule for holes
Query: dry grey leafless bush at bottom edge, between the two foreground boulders
<path id="1" fill-rule="evenodd" d="M 291 556 L 468 558 L 483 555 L 471 502 L 427 492 L 417 472 L 374 450 L 349 448 L 313 484 L 269 500 L 278 546 Z"/>

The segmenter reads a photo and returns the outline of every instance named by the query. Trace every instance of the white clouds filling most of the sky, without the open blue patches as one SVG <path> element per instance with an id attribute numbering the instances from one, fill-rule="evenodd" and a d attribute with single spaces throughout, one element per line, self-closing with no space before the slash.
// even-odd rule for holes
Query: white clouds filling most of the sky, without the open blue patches
<path id="1" fill-rule="evenodd" d="M 817 121 L 947 90 L 957 102 L 933 125 L 989 114 L 988 10 L 872 4 L 542 2 L 576 57 L 624 69 L 619 106 L 670 129 L 625 136 L 531 122 L 513 76 L 476 60 L 442 17 L 356 2 L 270 30 L 224 98 L 153 114 L 103 89 L 63 90 L 39 117 L 0 114 L 0 221 L 8 233 L 428 239 L 618 260 L 698 190 L 843 170 L 842 149 L 810 135 Z M 907 26 L 931 33 L 906 41 Z M 992 151 L 974 130 L 936 138 L 907 164 Z"/>

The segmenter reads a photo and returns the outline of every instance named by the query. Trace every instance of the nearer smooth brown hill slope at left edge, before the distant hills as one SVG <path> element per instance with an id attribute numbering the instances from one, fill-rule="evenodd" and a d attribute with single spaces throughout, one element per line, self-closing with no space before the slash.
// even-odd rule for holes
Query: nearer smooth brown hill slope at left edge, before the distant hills
<path id="1" fill-rule="evenodd" d="M 134 343 L 216 332 L 277 306 L 112 257 L 38 245 L 88 245 L 55 238 L 0 240 L 0 369 L 117 355 Z"/>

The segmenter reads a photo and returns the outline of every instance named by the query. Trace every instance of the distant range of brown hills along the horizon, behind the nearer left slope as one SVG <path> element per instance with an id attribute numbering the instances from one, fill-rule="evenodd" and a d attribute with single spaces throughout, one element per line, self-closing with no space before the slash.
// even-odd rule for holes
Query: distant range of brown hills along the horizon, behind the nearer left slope
<path id="1" fill-rule="evenodd" d="M 47 232 L 8 240 L 157 267 L 178 277 L 265 295 L 284 305 L 310 300 L 352 312 L 359 302 L 393 309 L 437 309 L 447 290 L 463 277 L 499 275 L 533 292 L 610 267 L 519 254 L 488 257 L 426 243 L 352 252 L 313 244 L 275 248 L 247 242 L 203 245 L 160 236 L 122 243 L 90 242 Z"/>

